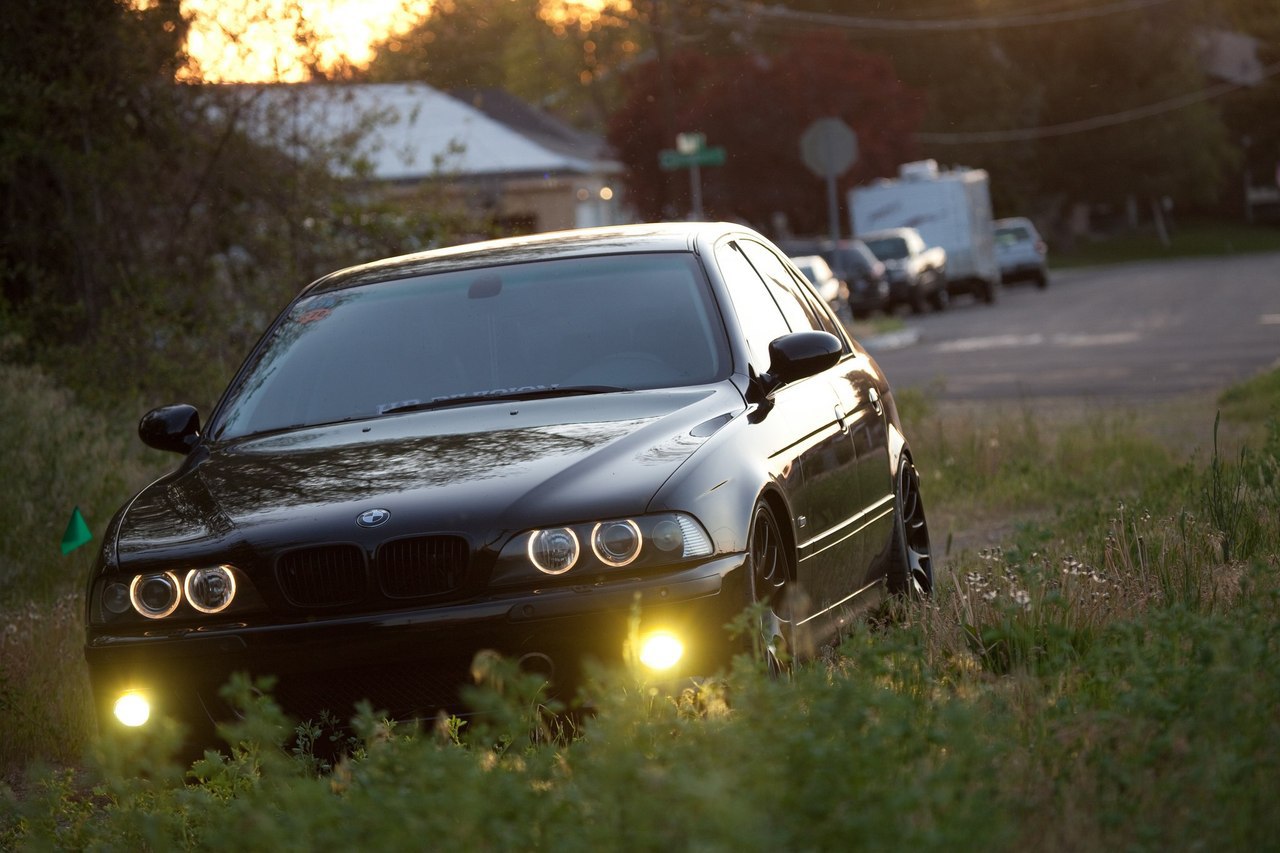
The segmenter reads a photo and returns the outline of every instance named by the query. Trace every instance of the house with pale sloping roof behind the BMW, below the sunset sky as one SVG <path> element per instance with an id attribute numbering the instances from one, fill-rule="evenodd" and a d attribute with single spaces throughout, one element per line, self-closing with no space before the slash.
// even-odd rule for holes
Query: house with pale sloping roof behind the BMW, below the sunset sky
<path id="1" fill-rule="evenodd" d="M 407 205 L 442 193 L 507 233 L 626 220 L 622 164 L 604 141 L 498 90 L 449 95 L 425 83 L 248 87 L 285 150 L 328 152 L 332 168 Z"/>

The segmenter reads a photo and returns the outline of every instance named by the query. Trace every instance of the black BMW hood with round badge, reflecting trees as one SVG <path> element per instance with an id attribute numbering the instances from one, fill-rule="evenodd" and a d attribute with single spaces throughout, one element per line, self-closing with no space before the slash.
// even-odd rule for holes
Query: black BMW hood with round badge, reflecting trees
<path id="1" fill-rule="evenodd" d="M 118 560 L 509 532 L 644 512 L 744 410 L 731 383 L 389 415 L 197 448 L 122 512 Z M 369 510 L 389 517 L 357 524 Z"/>

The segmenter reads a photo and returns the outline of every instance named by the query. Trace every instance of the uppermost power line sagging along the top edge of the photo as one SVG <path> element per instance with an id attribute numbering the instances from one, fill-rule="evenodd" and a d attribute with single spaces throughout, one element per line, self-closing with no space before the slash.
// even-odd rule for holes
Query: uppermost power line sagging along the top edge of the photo
<path id="1" fill-rule="evenodd" d="M 803 24 L 809 27 L 836 27 L 840 29 L 872 29 L 881 32 L 957 32 L 972 29 L 1006 29 L 1009 27 L 1034 27 L 1042 24 L 1085 20 L 1105 15 L 1137 12 L 1152 6 L 1175 3 L 1176 0 L 1116 0 L 1105 5 L 1064 9 L 1061 12 L 1038 12 L 1033 14 L 986 15 L 979 18 L 868 18 L 863 15 L 838 15 L 823 12 L 801 12 L 785 6 L 771 6 L 745 0 L 719 0 L 736 14 L 755 15 L 774 23 Z"/>

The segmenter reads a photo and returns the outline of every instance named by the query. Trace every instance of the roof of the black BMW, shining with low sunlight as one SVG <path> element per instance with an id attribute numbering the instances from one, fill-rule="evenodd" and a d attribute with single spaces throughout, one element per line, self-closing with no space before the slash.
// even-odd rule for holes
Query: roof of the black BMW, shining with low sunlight
<path id="1" fill-rule="evenodd" d="M 621 252 L 700 251 L 722 236 L 751 236 L 750 228 L 726 222 L 671 222 L 599 228 L 576 228 L 524 237 L 503 237 L 348 266 L 312 282 L 303 292 L 317 293 L 408 278 L 426 272 L 517 264 L 521 261 L 614 255 Z"/>

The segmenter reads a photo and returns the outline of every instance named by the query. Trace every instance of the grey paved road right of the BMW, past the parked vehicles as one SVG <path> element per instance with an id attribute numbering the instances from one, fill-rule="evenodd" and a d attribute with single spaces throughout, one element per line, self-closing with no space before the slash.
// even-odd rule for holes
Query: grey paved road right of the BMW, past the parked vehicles
<path id="1" fill-rule="evenodd" d="M 1166 397 L 1280 362 L 1280 254 L 1055 270 L 906 318 L 915 343 L 873 350 L 899 388 L 942 400 Z"/>

